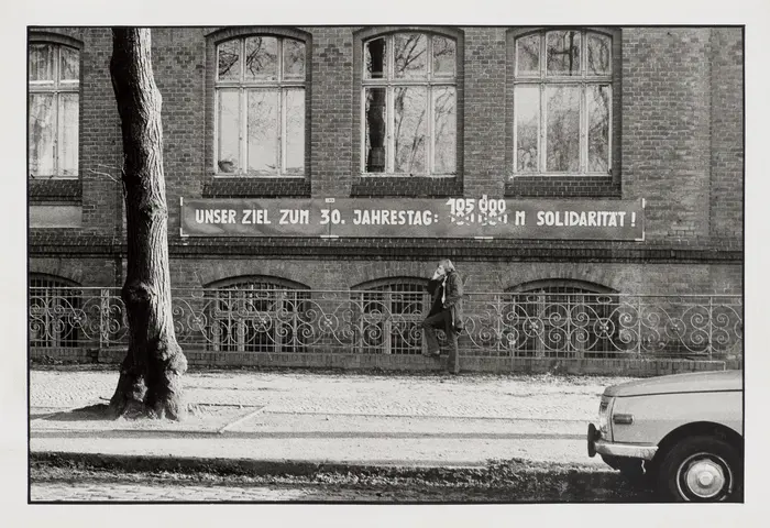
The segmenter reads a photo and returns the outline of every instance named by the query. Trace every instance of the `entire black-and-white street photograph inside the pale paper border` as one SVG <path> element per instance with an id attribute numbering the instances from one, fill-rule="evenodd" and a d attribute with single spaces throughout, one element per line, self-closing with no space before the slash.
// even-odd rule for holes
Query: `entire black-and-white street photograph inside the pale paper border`
<path id="1" fill-rule="evenodd" d="M 530 11 L 24 23 L 26 506 L 746 507 L 763 59 Z"/>

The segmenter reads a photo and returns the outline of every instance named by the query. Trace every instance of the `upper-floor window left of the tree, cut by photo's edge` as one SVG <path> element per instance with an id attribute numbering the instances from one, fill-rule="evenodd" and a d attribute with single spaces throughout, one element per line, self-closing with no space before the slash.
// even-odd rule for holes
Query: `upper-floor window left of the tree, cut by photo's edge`
<path id="1" fill-rule="evenodd" d="M 76 178 L 80 52 L 51 42 L 32 42 L 29 51 L 30 177 Z"/>

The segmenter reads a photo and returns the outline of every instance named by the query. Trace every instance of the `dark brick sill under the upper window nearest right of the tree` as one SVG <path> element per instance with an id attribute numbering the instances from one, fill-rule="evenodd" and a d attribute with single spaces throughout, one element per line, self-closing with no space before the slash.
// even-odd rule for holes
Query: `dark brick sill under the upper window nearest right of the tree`
<path id="1" fill-rule="evenodd" d="M 222 177 L 204 185 L 204 198 L 310 197 L 310 180 L 304 177 Z"/>

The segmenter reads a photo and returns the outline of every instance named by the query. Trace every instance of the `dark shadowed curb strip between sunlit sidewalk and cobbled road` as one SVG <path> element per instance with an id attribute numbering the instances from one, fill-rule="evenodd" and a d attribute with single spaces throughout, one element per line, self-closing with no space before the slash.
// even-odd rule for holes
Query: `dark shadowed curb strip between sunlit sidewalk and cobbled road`
<path id="1" fill-rule="evenodd" d="M 302 460 L 253 460 L 121 455 L 77 452 L 30 453 L 31 482 L 34 466 L 119 473 L 200 475 L 233 481 L 299 479 L 338 485 L 430 486 L 497 488 L 516 501 L 602 502 L 645 501 L 639 491 L 610 469 L 564 465 L 526 460 L 490 461 L 485 466 L 419 466 L 372 463 L 314 462 Z M 630 497 L 630 498 L 629 498 Z"/>

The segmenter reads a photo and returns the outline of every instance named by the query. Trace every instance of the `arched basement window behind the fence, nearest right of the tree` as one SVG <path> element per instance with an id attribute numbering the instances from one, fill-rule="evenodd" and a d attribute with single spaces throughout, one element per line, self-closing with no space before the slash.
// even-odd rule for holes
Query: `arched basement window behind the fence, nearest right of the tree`
<path id="1" fill-rule="evenodd" d="M 213 350 L 298 352 L 306 286 L 276 277 L 238 277 L 208 286 L 209 331 Z"/>

